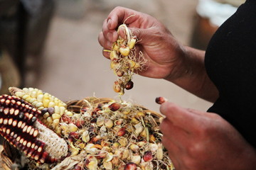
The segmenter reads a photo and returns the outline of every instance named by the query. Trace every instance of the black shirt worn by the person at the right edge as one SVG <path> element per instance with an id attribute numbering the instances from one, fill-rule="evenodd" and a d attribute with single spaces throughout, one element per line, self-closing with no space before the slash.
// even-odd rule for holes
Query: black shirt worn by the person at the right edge
<path id="1" fill-rule="evenodd" d="M 220 92 L 208 112 L 228 120 L 256 147 L 256 0 L 247 0 L 216 31 L 205 64 Z"/>

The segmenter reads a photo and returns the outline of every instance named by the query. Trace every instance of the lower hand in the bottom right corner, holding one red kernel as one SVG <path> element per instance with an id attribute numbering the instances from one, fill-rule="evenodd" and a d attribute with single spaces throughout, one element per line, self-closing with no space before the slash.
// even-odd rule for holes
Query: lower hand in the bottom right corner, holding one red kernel
<path id="1" fill-rule="evenodd" d="M 255 169 L 255 149 L 215 113 L 161 105 L 163 145 L 176 170 Z"/>

